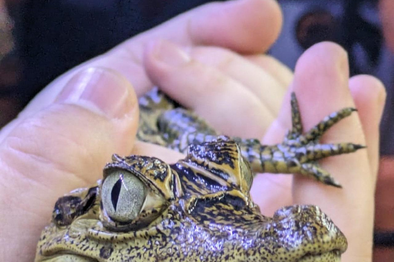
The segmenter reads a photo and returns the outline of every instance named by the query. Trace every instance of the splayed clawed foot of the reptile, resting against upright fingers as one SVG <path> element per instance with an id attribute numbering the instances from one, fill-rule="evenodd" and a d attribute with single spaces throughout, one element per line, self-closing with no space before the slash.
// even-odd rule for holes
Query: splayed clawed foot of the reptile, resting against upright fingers
<path id="1" fill-rule="evenodd" d="M 302 134 L 303 127 L 301 124 L 300 110 L 297 98 L 292 93 L 292 129 L 289 130 L 283 143 L 278 145 L 288 169 L 291 172 L 302 173 L 305 176 L 313 177 L 324 184 L 341 187 L 326 170 L 320 167 L 317 161 L 330 156 L 354 152 L 360 148 L 365 148 L 365 146 L 352 143 L 320 144 L 319 140 L 328 128 L 349 116 L 354 111 L 357 111 L 356 108 L 343 108 L 325 117 L 307 133 Z"/>

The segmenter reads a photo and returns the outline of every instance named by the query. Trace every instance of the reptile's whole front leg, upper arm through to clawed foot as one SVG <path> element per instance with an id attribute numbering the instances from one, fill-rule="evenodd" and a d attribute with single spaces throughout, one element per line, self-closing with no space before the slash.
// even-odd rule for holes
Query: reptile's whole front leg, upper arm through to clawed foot
<path id="1" fill-rule="evenodd" d="M 328 128 L 354 111 L 355 108 L 347 107 L 334 112 L 303 134 L 297 98 L 292 93 L 292 128 L 281 144 L 268 146 L 262 145 L 258 139 L 232 139 L 240 146 L 242 156 L 249 161 L 254 173 L 301 173 L 324 184 L 341 187 L 317 161 L 354 152 L 364 146 L 352 143 L 320 144 L 319 140 Z M 219 136 L 203 119 L 185 108 L 164 112 L 157 125 L 164 141 L 161 145 L 180 152 L 186 152 L 189 144 L 201 144 Z"/>

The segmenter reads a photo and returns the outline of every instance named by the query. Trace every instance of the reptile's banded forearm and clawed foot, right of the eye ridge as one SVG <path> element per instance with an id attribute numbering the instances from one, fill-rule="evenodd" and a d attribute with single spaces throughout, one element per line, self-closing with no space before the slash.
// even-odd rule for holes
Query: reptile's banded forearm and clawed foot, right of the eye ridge
<path id="1" fill-rule="evenodd" d="M 291 94 L 292 129 L 281 144 L 261 145 L 255 139 L 235 139 L 242 155 L 249 161 L 254 172 L 301 173 L 327 185 L 341 187 L 330 174 L 320 167 L 318 160 L 330 156 L 354 152 L 365 146 L 352 143 L 320 144 L 321 136 L 328 128 L 346 118 L 355 108 L 347 107 L 325 117 L 307 133 L 303 133 L 301 115 L 295 94 Z"/>

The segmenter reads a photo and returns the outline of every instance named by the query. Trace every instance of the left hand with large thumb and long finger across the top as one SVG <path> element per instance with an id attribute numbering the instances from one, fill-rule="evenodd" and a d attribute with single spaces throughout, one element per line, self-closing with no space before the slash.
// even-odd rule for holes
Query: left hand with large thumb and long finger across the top
<path id="1" fill-rule="evenodd" d="M 209 4 L 122 43 L 47 86 L 0 133 L 0 260 L 31 261 L 56 198 L 99 179 L 114 152 L 130 154 L 138 111 L 129 81 L 137 95 L 152 86 L 142 64 L 147 43 L 167 38 L 189 48 L 220 46 L 253 55 L 271 45 L 280 25 L 274 1 Z"/>

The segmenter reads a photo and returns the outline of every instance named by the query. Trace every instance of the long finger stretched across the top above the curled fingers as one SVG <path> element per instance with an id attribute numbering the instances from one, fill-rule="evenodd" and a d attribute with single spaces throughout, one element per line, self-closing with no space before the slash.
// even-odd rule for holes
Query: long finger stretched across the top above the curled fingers
<path id="1" fill-rule="evenodd" d="M 133 37 L 58 77 L 30 102 L 22 116 L 51 103 L 70 77 L 87 67 L 109 67 L 120 72 L 133 84 L 138 96 L 145 94 L 152 85 L 142 67 L 142 54 L 152 40 L 170 39 L 183 46 L 222 46 L 251 54 L 267 50 L 279 35 L 281 24 L 281 10 L 274 0 L 206 4 Z"/>

